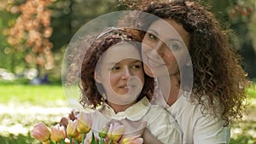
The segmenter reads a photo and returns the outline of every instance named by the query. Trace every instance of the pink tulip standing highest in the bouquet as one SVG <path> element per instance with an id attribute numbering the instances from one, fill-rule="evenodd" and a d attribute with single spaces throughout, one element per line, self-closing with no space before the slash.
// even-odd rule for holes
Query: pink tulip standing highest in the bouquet
<path id="1" fill-rule="evenodd" d="M 89 133 L 90 132 L 90 128 L 92 125 L 92 118 L 90 116 L 90 113 L 85 113 L 85 112 L 80 112 L 77 115 L 78 118 L 78 127 L 77 130 L 82 133 Z"/>

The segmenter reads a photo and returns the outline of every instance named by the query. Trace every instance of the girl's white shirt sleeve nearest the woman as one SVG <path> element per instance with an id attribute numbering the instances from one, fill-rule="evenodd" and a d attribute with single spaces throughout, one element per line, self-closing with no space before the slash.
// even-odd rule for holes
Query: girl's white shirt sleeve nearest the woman
<path id="1" fill-rule="evenodd" d="M 181 144 L 182 133 L 177 122 L 166 110 L 160 107 L 155 109 L 157 110 L 154 112 L 158 113 L 149 113 L 154 120 L 148 124 L 148 130 L 163 144 Z"/>

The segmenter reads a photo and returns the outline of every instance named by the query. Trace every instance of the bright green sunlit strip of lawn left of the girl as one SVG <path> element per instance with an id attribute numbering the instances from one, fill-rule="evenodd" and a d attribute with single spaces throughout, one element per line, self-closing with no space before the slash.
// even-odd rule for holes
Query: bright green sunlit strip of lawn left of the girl
<path id="1" fill-rule="evenodd" d="M 0 103 L 21 102 L 45 106 L 50 101 L 65 101 L 61 85 L 0 85 Z"/>

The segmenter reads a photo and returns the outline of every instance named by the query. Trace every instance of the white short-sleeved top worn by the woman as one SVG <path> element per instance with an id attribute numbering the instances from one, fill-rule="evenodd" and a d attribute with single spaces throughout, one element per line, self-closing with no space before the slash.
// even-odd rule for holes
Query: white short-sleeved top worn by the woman
<path id="1" fill-rule="evenodd" d="M 217 115 L 202 114 L 200 105 L 181 95 L 172 107 L 166 108 L 183 133 L 183 144 L 230 143 L 230 125 Z"/>

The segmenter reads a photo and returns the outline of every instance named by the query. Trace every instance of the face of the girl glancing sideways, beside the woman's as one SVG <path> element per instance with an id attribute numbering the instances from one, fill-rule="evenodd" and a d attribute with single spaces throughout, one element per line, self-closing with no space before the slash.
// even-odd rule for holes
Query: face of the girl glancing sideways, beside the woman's
<path id="1" fill-rule="evenodd" d="M 139 50 L 131 43 L 108 48 L 96 68 L 96 82 L 102 84 L 108 101 L 125 105 L 137 100 L 144 84 Z"/>

